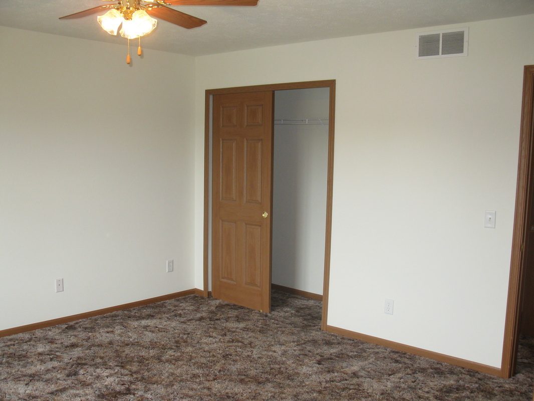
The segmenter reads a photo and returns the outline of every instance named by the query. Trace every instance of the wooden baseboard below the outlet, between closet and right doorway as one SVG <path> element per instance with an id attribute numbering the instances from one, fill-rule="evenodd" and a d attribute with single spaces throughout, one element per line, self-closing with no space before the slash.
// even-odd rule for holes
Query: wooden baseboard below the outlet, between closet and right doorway
<path id="1" fill-rule="evenodd" d="M 451 357 L 449 355 L 445 355 L 439 352 L 423 350 L 422 348 L 417 348 L 411 345 L 400 344 L 394 341 L 384 340 L 383 338 L 368 336 L 366 334 L 356 333 L 355 331 L 345 330 L 345 329 L 341 329 L 339 327 L 334 327 L 334 326 L 326 326 L 326 331 L 328 331 L 328 333 L 339 334 L 345 337 L 355 338 L 356 340 L 362 340 L 362 341 L 365 341 L 366 343 L 387 346 L 388 348 L 391 348 L 397 351 L 403 351 L 403 352 L 411 353 L 414 355 L 418 355 L 420 357 L 434 359 L 440 362 L 445 362 L 447 364 L 456 365 L 456 366 L 464 367 L 467 369 L 472 369 L 473 371 L 486 373 L 486 374 L 490 374 L 493 376 L 503 377 L 500 368 L 496 368 L 496 367 L 484 365 L 484 364 L 479 364 L 477 362 L 469 361 L 467 359 Z"/>

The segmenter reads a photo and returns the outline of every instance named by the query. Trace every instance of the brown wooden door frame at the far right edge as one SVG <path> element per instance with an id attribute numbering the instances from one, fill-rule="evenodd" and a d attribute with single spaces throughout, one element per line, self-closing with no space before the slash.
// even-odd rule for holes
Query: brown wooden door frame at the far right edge
<path id="1" fill-rule="evenodd" d="M 517 343 L 523 279 L 525 274 L 525 252 L 529 229 L 529 205 L 532 199 L 534 179 L 534 65 L 524 67 L 523 101 L 521 106 L 521 134 L 519 142 L 519 162 L 517 167 L 517 187 L 515 195 L 514 231 L 512 236 L 512 258 L 508 283 L 508 304 L 504 344 L 502 347 L 501 376 L 512 377 L 517 360 Z"/>

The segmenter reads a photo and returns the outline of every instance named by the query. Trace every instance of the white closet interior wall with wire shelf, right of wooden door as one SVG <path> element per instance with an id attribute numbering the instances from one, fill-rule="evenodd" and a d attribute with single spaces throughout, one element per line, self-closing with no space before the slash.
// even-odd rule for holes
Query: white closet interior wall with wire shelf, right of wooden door
<path id="1" fill-rule="evenodd" d="M 274 92 L 272 284 L 323 294 L 329 88 Z"/>

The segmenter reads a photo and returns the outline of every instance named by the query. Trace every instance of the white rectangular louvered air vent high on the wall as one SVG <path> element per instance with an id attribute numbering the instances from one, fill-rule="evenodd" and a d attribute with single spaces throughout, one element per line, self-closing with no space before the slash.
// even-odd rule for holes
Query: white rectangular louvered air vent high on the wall
<path id="1" fill-rule="evenodd" d="M 467 56 L 469 28 L 436 30 L 417 34 L 415 58 Z"/>

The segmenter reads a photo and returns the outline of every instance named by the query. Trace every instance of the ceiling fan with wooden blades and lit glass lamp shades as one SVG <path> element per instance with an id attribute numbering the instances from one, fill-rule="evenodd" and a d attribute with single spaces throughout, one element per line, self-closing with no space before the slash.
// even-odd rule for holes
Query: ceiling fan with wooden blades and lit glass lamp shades
<path id="1" fill-rule="evenodd" d="M 103 0 L 115 1 L 116 0 Z M 181 11 L 171 9 L 169 5 L 232 5 L 245 6 L 257 5 L 258 0 L 119 0 L 116 4 L 105 4 L 93 7 L 92 9 L 69 14 L 59 19 L 73 19 L 82 18 L 97 14 L 100 12 L 107 12 L 103 16 L 97 18 L 100 26 L 109 34 L 116 35 L 119 26 L 122 25 L 119 33 L 121 36 L 130 39 L 139 38 L 139 48 L 137 54 L 142 54 L 140 38 L 150 32 L 156 27 L 156 17 L 172 24 L 191 29 L 197 28 L 206 24 L 207 21 L 190 16 Z M 152 16 L 152 17 L 151 17 Z M 130 46 L 128 46 L 128 56 L 126 62 L 130 64 Z"/>

